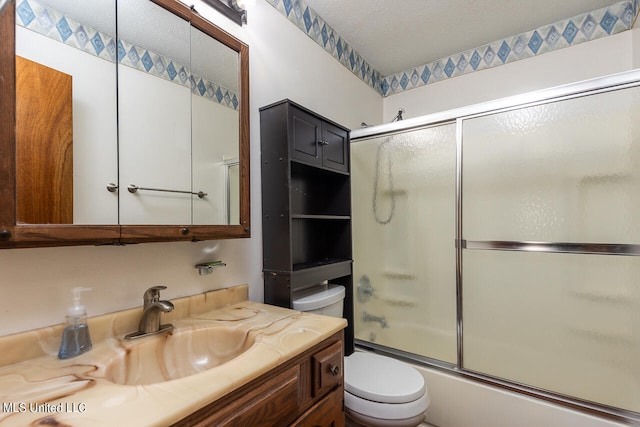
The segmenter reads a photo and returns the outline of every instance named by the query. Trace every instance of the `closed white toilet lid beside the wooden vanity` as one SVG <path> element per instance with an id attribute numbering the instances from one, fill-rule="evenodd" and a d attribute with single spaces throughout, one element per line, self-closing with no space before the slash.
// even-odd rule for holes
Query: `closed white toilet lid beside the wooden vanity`
<path id="1" fill-rule="evenodd" d="M 344 388 L 355 396 L 381 403 L 411 402 L 427 390 L 424 378 L 411 366 L 365 352 L 344 358 Z"/>

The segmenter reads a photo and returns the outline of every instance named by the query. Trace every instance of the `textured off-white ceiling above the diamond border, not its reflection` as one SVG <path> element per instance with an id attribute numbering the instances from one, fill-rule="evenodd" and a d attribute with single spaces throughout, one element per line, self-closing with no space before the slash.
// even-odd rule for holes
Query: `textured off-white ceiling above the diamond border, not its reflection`
<path id="1" fill-rule="evenodd" d="M 619 2 L 305 1 L 383 76 Z"/>

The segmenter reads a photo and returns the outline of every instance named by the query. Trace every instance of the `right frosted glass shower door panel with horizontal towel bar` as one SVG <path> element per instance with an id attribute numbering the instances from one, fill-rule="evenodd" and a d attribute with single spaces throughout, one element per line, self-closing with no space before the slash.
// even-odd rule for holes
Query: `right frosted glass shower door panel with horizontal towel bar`
<path id="1" fill-rule="evenodd" d="M 640 411 L 639 101 L 462 120 L 464 369 Z"/>

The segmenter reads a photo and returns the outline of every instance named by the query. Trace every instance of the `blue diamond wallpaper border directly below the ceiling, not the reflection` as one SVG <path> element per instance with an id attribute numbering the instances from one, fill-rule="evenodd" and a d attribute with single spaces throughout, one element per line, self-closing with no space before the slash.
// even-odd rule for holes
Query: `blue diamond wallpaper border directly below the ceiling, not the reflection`
<path id="1" fill-rule="evenodd" d="M 640 0 L 624 0 L 429 64 L 383 76 L 304 0 L 266 1 L 382 96 L 617 34 L 631 29 L 640 12 Z"/>

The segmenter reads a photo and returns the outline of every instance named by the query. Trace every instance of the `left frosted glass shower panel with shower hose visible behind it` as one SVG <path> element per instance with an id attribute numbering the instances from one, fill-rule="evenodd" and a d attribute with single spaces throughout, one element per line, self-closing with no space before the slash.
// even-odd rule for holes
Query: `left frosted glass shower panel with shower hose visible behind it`
<path id="1" fill-rule="evenodd" d="M 356 339 L 456 363 L 456 125 L 351 152 Z"/>

